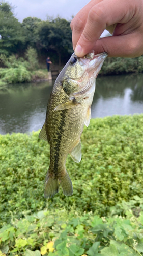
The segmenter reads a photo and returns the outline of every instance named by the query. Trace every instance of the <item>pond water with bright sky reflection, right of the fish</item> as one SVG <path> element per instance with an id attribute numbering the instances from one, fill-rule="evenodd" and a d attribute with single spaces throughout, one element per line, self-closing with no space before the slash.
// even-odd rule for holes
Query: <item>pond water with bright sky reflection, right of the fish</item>
<path id="1" fill-rule="evenodd" d="M 92 117 L 143 112 L 143 74 L 100 77 L 92 104 Z"/>

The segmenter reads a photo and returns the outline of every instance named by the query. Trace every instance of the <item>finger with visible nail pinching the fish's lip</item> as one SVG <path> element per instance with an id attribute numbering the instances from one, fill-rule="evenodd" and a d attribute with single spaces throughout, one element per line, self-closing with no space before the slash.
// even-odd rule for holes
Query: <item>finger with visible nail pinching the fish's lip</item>
<path id="1" fill-rule="evenodd" d="M 96 41 L 106 27 L 118 22 L 125 22 L 126 14 L 127 5 L 125 3 L 123 6 L 120 0 L 103 0 L 94 5 L 89 11 L 87 23 L 75 48 L 75 54 L 82 57 L 89 53 L 95 48 Z"/>

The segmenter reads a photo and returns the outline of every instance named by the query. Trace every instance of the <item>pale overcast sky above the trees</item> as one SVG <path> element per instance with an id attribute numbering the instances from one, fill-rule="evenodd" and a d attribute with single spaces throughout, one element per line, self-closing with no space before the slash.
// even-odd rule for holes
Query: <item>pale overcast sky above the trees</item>
<path id="1" fill-rule="evenodd" d="M 15 17 L 22 22 L 26 17 L 37 17 L 46 20 L 48 16 L 60 16 L 67 20 L 72 19 L 72 15 L 76 13 L 85 5 L 89 0 L 11 0 L 9 3 L 15 6 Z M 108 33 L 104 32 L 103 35 Z"/>

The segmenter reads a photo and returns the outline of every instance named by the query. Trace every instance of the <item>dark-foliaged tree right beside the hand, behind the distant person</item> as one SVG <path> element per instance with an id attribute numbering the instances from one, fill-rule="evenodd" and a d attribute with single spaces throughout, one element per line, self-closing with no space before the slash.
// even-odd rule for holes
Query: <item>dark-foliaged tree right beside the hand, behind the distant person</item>
<path id="1" fill-rule="evenodd" d="M 69 58 L 73 52 L 72 31 L 70 22 L 66 19 L 58 17 L 39 23 L 37 36 L 37 48 L 55 50 L 59 56 L 59 66 L 61 66 L 61 59 L 66 56 Z"/>

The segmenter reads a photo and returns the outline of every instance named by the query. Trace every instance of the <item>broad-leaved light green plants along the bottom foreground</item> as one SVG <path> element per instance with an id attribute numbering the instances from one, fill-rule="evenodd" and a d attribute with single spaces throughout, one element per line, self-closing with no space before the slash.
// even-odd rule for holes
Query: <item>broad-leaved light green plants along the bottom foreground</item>
<path id="1" fill-rule="evenodd" d="M 143 200 L 111 207 L 107 217 L 77 212 L 40 211 L 0 229 L 0 255 L 10 256 L 141 256 Z M 139 205 L 136 207 L 135 205 Z M 132 207 L 139 209 L 137 218 Z M 120 211 L 125 211 L 120 215 Z M 117 213 L 119 215 L 117 215 Z"/>

